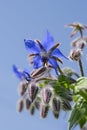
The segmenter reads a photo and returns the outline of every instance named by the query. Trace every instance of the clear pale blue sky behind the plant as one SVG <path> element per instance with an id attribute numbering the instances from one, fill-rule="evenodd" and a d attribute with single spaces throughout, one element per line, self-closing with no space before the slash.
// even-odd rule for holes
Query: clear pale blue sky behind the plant
<path id="1" fill-rule="evenodd" d="M 65 25 L 78 21 L 87 24 L 87 0 L 0 0 L 0 130 L 67 130 L 68 113 L 56 120 L 51 112 L 41 119 L 38 111 L 35 116 L 16 111 L 19 80 L 12 65 L 31 69 L 24 38 L 43 40 L 47 29 L 67 56 L 72 39 Z M 75 63 L 64 61 L 64 66 L 78 71 Z"/>

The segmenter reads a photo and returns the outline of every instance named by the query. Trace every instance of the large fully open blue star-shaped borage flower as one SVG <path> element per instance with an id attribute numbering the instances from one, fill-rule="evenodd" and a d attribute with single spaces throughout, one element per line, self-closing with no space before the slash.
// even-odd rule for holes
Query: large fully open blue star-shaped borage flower
<path id="1" fill-rule="evenodd" d="M 39 40 L 24 40 L 24 42 L 26 48 L 30 52 L 29 57 L 33 57 L 32 64 L 34 66 L 34 69 L 40 68 L 41 66 L 48 66 L 50 64 L 58 75 L 58 62 L 63 63 L 60 58 L 68 58 L 65 57 L 57 48 L 59 46 L 59 43 L 54 43 L 54 38 L 48 31 L 46 38 L 42 42 Z"/>

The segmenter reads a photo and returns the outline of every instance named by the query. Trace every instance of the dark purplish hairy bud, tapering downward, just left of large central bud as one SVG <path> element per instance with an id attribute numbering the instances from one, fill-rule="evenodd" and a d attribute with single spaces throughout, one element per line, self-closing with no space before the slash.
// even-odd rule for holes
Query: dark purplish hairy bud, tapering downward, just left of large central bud
<path id="1" fill-rule="evenodd" d="M 38 87 L 35 84 L 31 84 L 28 87 L 28 92 L 29 92 L 30 100 L 33 102 L 33 100 L 35 99 L 35 97 L 37 95 Z"/>

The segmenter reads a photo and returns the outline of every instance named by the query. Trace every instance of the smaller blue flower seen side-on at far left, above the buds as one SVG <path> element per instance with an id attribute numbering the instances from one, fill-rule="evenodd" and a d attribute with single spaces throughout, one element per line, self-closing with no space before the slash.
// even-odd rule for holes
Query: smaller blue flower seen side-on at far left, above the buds
<path id="1" fill-rule="evenodd" d="M 13 71 L 20 80 L 26 79 L 27 81 L 31 81 L 30 74 L 26 70 L 20 70 L 13 65 Z"/>

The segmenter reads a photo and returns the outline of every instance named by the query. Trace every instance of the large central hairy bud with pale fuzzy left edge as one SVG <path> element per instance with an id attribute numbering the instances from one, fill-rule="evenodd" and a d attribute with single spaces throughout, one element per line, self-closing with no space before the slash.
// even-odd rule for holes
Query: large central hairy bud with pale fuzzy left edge
<path id="1" fill-rule="evenodd" d="M 45 104 L 48 104 L 49 101 L 50 101 L 51 96 L 52 96 L 52 92 L 51 92 L 50 88 L 45 87 L 45 88 L 42 90 L 42 101 L 43 101 Z"/>

